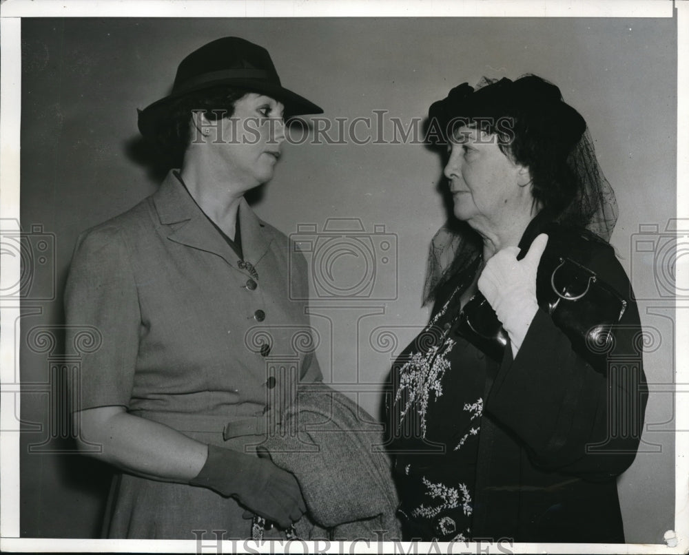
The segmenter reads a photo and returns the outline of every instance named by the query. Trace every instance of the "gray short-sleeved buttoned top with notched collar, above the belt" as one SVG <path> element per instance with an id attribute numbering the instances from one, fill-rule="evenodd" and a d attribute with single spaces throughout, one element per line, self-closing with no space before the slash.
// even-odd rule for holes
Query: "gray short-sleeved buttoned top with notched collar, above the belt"
<path id="1" fill-rule="evenodd" d="M 245 200 L 239 222 L 255 289 L 172 171 L 152 196 L 81 234 L 66 320 L 76 332 L 97 328 L 101 345 L 83 357 L 75 410 L 242 418 L 288 402 L 298 380 L 321 379 L 298 300 L 305 259 Z M 74 339 L 68 333 L 68 351 Z"/>

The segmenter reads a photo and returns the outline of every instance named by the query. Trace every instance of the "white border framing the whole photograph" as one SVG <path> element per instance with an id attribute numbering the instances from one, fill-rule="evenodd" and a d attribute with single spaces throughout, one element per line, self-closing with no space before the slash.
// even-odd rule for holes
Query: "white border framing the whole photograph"
<path id="1" fill-rule="evenodd" d="M 193 10 L 189 8 L 193 5 Z M 624 1 L 462 1 L 407 0 L 395 1 L 329 1 L 329 0 L 241 0 L 241 1 L 51 1 L 6 0 L 0 6 L 0 218 L 19 220 L 19 137 L 21 114 L 21 17 L 436 17 L 439 13 L 451 17 L 673 17 L 677 15 L 677 121 L 689 121 L 689 97 L 679 94 L 689 89 L 689 3 L 670 0 Z M 193 13 L 192 13 L 193 12 Z M 677 125 L 677 218 L 689 218 L 689 127 Z M 677 253 L 677 282 L 689 282 L 688 257 Z M 5 261 L 0 269 L 1 284 L 18 282 L 19 260 Z M 3 304 L 0 325 L 0 384 L 3 402 L 0 404 L 2 423 L 15 421 L 19 415 L 19 395 L 14 395 L 17 379 L 14 375 L 18 357 L 12 333 L 19 318 L 19 303 Z M 677 368 L 677 426 L 675 432 L 675 533 L 677 545 L 580 545 L 580 544 L 515 544 L 517 553 L 684 553 L 689 550 L 689 369 L 686 345 L 689 344 L 689 318 L 686 311 L 677 311 L 677 339 L 675 342 Z M 7 384 L 12 384 L 7 386 Z M 683 397 L 682 397 L 683 396 Z M 15 399 L 9 401 L 8 399 Z M 7 401 L 7 402 L 4 402 Z M 197 552 L 195 541 L 111 541 L 74 539 L 36 539 L 19 537 L 19 432 L 5 431 L 0 441 L 0 549 L 13 552 Z M 685 519 L 680 521 L 681 516 Z M 441 545 L 441 544 L 438 544 Z M 433 543 L 418 543 L 418 552 L 438 551 Z M 462 544 L 466 546 L 466 544 Z M 473 544 L 470 544 L 473 545 Z M 305 545 L 292 545 L 298 552 Z M 318 545 L 307 545 L 309 549 Z M 392 545 L 371 546 L 362 542 L 339 545 L 350 553 L 391 552 Z M 409 545 L 404 553 L 409 552 Z M 245 549 L 249 552 L 289 552 L 269 544 L 247 542 L 237 545 L 225 542 L 222 549 Z M 333 547 L 334 549 L 334 547 Z M 582 549 L 584 549 L 582 551 Z M 208 549 L 205 549 L 208 552 Z M 322 552 L 322 551 L 320 551 Z M 462 552 L 460 547 L 457 551 Z M 481 551 L 476 551 L 481 552 Z"/>

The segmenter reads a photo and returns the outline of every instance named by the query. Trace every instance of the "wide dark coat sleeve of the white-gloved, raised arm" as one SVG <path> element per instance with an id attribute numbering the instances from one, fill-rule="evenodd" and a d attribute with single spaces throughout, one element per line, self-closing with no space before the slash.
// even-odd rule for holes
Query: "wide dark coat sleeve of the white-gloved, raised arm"
<path id="1" fill-rule="evenodd" d="M 600 249 L 588 266 L 628 303 L 607 368 L 594 370 L 539 309 L 516 358 L 505 350 L 485 410 L 517 435 L 535 465 L 605 480 L 635 458 L 647 388 L 639 313 L 624 269 L 612 249 Z"/>

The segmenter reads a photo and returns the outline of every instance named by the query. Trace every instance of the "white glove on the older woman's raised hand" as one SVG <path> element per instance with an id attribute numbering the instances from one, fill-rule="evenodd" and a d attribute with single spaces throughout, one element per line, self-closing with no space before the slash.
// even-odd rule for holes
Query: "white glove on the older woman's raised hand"
<path id="1" fill-rule="evenodd" d="M 478 289 L 509 335 L 515 357 L 538 311 L 536 272 L 547 243 L 548 235 L 538 235 L 522 260 L 517 260 L 517 247 L 497 251 L 478 278 Z"/>

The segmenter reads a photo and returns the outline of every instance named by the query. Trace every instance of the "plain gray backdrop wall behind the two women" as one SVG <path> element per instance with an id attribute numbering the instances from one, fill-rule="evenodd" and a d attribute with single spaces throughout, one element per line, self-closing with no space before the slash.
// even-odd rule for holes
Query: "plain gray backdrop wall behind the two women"
<path id="1" fill-rule="evenodd" d="M 384 138 L 393 133 L 390 118 L 405 125 L 423 118 L 463 81 L 529 72 L 559 85 L 586 118 L 617 193 L 612 242 L 643 293 L 646 373 L 663 389 L 675 364 L 674 312 L 658 249 L 671 241 L 663 232 L 676 212 L 676 29 L 673 19 L 23 19 L 21 222 L 24 231 L 42 225 L 40 233 L 55 241 L 54 300 L 24 305 L 23 383 L 50 381 L 47 355 L 26 347 L 25 332 L 61 324 L 78 233 L 156 189 L 156 174 L 142 163 L 136 108 L 169 92 L 186 54 L 237 35 L 265 46 L 283 85 L 321 105 L 330 121 L 375 121 L 374 110 L 386 111 Z M 374 126 L 371 138 L 378 132 Z M 288 235 L 313 238 L 309 260 L 321 281 L 312 291 L 312 321 L 325 380 L 379 415 L 390 364 L 428 317 L 421 294 L 429 241 L 446 218 L 442 167 L 420 144 L 311 139 L 286 145 L 254 209 Z M 350 229 L 334 235 L 342 256 L 319 258 L 318 248 L 333 244 L 322 233 L 329 218 L 347 218 L 330 224 Z M 651 227 L 640 231 L 640 224 Z M 638 249 L 640 241 L 655 251 Z M 352 250 L 361 244 L 370 252 Z M 375 280 L 372 293 L 357 289 L 358 276 Z M 338 286 L 351 294 L 338 294 Z M 51 429 L 49 397 L 27 392 L 22 399 L 23 421 L 43 428 L 22 437 L 21 534 L 97 536 L 105 465 L 29 452 Z M 661 543 L 674 526 L 673 418 L 672 395 L 652 393 L 641 452 L 619 480 L 630 543 Z"/>

